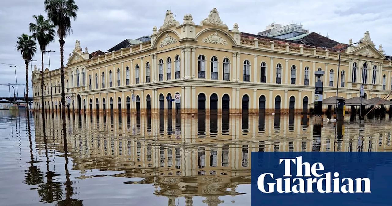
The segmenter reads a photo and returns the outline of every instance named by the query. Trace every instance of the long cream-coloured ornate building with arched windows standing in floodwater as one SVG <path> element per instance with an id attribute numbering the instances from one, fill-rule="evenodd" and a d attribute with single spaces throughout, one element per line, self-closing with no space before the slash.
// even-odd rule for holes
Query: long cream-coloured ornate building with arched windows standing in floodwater
<path id="1" fill-rule="evenodd" d="M 337 50 L 347 44 L 316 33 L 290 40 L 243 33 L 237 23 L 232 28 L 224 24 L 215 8 L 200 24 L 190 14 L 178 22 L 167 11 L 150 36 L 124 40 L 113 51 L 89 53 L 85 47 L 83 52 L 76 40 L 65 67 L 65 92 L 75 109 L 87 112 L 299 112 L 314 102 L 314 71 L 323 70 L 324 98 L 336 95 L 338 84 L 339 96 L 356 97 L 361 83 L 365 97 L 383 98 L 391 88 L 392 57 L 384 55 L 381 45 L 376 49 L 368 31 L 361 41 L 341 53 L 338 73 Z M 58 111 L 60 69 L 47 69 L 44 77 L 43 104 Z M 34 69 L 36 109 L 42 104 L 40 78 Z"/>

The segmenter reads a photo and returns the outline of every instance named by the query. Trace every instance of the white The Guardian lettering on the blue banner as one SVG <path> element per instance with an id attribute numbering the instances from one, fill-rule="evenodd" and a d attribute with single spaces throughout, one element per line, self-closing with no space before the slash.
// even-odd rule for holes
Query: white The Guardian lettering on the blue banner
<path id="1" fill-rule="evenodd" d="M 291 163 L 297 167 L 294 177 L 290 172 Z M 371 193 L 369 178 L 339 178 L 339 172 L 333 173 L 331 179 L 330 171 L 324 172 L 324 165 L 316 162 L 310 165 L 309 162 L 302 162 L 302 157 L 295 159 L 279 159 L 279 164 L 284 164 L 285 173 L 283 177 L 274 179 L 273 173 L 263 173 L 257 179 L 258 189 L 263 193 L 313 193 L 314 189 L 319 193 Z M 303 171 L 303 169 L 305 169 Z M 305 178 L 309 177 L 309 178 Z M 333 181 L 333 191 L 332 191 Z M 355 181 L 355 182 L 354 182 Z M 265 184 L 268 186 L 266 187 Z M 354 185 L 356 185 L 354 190 Z M 306 190 L 305 190 L 306 187 Z"/>

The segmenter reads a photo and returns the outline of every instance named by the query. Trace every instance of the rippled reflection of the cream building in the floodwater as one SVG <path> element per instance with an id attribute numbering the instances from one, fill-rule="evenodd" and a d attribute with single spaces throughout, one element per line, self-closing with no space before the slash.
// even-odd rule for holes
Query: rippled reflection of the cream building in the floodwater
<path id="1" fill-rule="evenodd" d="M 208 205 L 218 205 L 222 202 L 221 196 L 249 193 L 250 190 L 237 191 L 237 186 L 250 184 L 252 151 L 391 149 L 392 125 L 385 121 L 382 124 L 363 122 L 361 126 L 350 121 L 345 121 L 344 126 L 343 121 L 336 122 L 336 125 L 329 122 L 313 125 L 307 113 L 230 116 L 228 113 L 202 113 L 187 117 L 176 111 L 165 111 L 158 114 L 108 115 L 109 123 L 106 123 L 106 115 L 103 114 L 70 118 L 66 122 L 67 130 L 73 130 L 67 135 L 67 147 L 64 147 L 61 133 L 53 133 L 54 138 L 47 139 L 37 129 L 36 141 L 40 142 L 37 146 L 41 146 L 45 153 L 47 144 L 54 144 L 59 151 L 67 149 L 67 158 L 73 163 L 69 165 L 79 171 L 79 179 L 95 177 L 88 175 L 92 169 L 123 171 L 113 175 L 115 177 L 143 178 L 124 183 L 152 184 L 154 195 L 167 197 L 169 205 L 176 205 L 175 199 L 184 197 L 186 205 L 191 206 L 194 196 L 204 197 L 203 202 Z M 42 124 L 38 116 L 35 118 L 36 125 Z M 61 118 L 48 118 L 47 131 L 55 131 L 61 125 Z M 125 122 L 126 125 L 123 124 Z M 51 129 L 53 124 L 55 127 Z M 377 124 L 378 129 L 359 131 L 359 128 L 370 124 Z M 361 138 L 358 138 L 359 134 Z M 49 168 L 45 170 L 48 177 L 49 174 L 54 175 Z M 32 179 L 39 180 L 38 176 L 42 174 L 36 176 Z M 72 181 L 66 183 L 75 187 Z M 60 196 L 64 199 L 63 193 L 73 194 L 70 188 L 63 193 L 58 191 L 59 185 L 50 178 L 39 184 L 53 187 L 53 198 L 45 198 L 51 201 L 58 201 Z"/>

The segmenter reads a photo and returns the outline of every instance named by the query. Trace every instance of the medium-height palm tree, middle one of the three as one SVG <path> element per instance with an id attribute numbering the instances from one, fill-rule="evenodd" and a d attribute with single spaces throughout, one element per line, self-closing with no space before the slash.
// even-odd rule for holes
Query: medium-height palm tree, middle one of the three
<path id="1" fill-rule="evenodd" d="M 35 24 L 30 23 L 29 29 L 30 32 L 33 33 L 33 38 L 38 40 L 38 45 L 41 49 L 41 102 L 42 102 L 42 117 L 44 117 L 44 53 L 46 46 L 49 45 L 50 42 L 54 40 L 54 25 L 51 24 L 49 19 L 45 19 L 44 16 L 34 15 L 33 18 L 35 19 Z M 54 88 L 56 89 L 56 88 Z"/>

